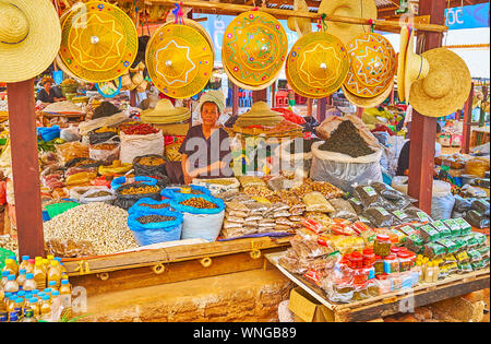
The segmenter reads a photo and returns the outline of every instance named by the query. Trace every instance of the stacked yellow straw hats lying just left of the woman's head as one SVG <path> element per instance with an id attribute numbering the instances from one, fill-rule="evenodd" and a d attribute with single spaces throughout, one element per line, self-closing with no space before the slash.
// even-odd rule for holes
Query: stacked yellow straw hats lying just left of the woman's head
<path id="1" fill-rule="evenodd" d="M 145 123 L 170 124 L 184 122 L 190 117 L 191 112 L 188 108 L 173 107 L 169 99 L 161 99 L 155 108 L 143 111 L 141 119 Z"/>

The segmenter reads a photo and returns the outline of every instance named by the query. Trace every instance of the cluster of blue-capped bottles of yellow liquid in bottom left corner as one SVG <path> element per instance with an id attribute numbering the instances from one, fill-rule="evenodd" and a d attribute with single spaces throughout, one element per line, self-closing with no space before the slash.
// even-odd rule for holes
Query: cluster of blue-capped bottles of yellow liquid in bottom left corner
<path id="1" fill-rule="evenodd" d="M 0 322 L 35 322 L 51 318 L 51 306 L 63 307 L 69 317 L 72 288 L 58 258 L 5 260 L 0 281 Z"/>

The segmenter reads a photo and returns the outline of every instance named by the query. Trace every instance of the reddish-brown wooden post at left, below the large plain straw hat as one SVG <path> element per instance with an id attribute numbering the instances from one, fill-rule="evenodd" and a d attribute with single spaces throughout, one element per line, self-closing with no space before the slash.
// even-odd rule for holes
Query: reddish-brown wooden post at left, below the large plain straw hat
<path id="1" fill-rule="evenodd" d="M 34 80 L 7 84 L 19 254 L 45 256 Z"/>

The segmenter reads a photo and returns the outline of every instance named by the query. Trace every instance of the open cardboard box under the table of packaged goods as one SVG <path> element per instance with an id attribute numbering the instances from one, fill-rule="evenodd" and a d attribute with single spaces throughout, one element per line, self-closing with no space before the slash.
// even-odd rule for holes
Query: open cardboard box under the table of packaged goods
<path id="1" fill-rule="evenodd" d="M 295 322 L 334 322 L 334 313 L 301 287 L 291 289 L 288 308 Z"/>

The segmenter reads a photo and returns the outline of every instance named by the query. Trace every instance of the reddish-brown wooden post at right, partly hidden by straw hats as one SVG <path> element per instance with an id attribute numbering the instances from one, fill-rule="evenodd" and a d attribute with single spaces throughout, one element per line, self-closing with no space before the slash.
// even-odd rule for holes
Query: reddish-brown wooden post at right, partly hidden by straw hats
<path id="1" fill-rule="evenodd" d="M 445 0 L 421 0 L 419 14 L 431 15 L 431 23 L 445 23 Z M 441 33 L 422 33 L 418 35 L 418 45 L 424 41 L 423 51 L 442 46 Z M 418 51 L 421 54 L 423 51 Z M 409 155 L 408 193 L 419 201 L 418 206 L 431 213 L 433 192 L 434 143 L 436 140 L 436 118 L 427 117 L 414 110 Z"/>

